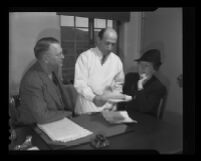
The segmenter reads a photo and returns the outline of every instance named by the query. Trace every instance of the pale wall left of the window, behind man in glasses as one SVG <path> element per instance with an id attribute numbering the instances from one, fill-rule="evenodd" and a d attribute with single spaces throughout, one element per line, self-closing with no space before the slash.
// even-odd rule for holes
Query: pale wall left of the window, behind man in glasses
<path id="1" fill-rule="evenodd" d="M 24 72 L 35 61 L 33 48 L 38 39 L 53 36 L 60 40 L 56 12 L 9 13 L 9 92 L 17 94 Z"/>

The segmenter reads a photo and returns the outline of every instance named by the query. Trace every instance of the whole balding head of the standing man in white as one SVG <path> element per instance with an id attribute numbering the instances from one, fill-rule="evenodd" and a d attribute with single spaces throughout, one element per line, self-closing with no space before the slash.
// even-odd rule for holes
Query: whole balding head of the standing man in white
<path id="1" fill-rule="evenodd" d="M 98 37 L 98 48 L 103 55 L 108 55 L 110 52 L 112 52 L 114 45 L 117 42 L 116 31 L 113 28 L 106 28 L 99 32 Z"/>

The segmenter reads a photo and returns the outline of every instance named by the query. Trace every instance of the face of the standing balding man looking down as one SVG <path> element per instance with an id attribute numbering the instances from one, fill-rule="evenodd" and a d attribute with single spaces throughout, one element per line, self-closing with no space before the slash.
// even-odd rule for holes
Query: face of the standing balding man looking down
<path id="1" fill-rule="evenodd" d="M 106 56 L 114 49 L 117 42 L 116 33 L 105 33 L 103 38 L 99 42 L 99 48 L 101 52 Z"/>

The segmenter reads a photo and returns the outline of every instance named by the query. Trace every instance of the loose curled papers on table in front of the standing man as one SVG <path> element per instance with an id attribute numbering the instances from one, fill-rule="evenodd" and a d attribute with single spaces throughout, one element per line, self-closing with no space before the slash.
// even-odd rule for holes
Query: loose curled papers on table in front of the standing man
<path id="1" fill-rule="evenodd" d="M 110 123 L 137 123 L 128 116 L 127 111 L 103 111 L 102 115 Z"/>

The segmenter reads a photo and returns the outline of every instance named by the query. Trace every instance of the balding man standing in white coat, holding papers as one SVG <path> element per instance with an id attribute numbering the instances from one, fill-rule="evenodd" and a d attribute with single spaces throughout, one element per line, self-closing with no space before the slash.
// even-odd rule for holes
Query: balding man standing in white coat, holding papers
<path id="1" fill-rule="evenodd" d="M 123 65 L 112 52 L 117 33 L 112 28 L 99 32 L 97 47 L 80 54 L 75 64 L 74 87 L 78 92 L 75 113 L 84 114 L 114 110 L 112 98 L 124 98 Z"/>

